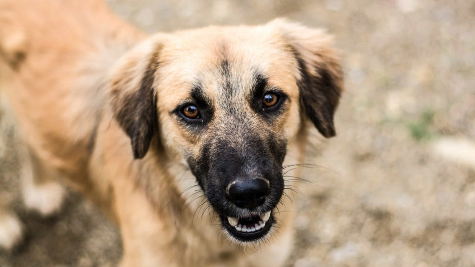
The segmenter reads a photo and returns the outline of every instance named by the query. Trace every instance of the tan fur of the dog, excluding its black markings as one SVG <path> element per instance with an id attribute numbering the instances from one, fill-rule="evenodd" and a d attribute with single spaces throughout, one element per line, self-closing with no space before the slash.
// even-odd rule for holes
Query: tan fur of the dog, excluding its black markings
<path id="1" fill-rule="evenodd" d="M 30 153 L 48 170 L 41 176 L 60 178 L 117 222 L 122 266 L 281 266 L 292 245 L 292 204 L 283 198 L 279 210 L 285 212 L 276 214 L 279 233 L 272 233 L 269 244 L 228 240 L 212 208 L 195 214 L 205 197 L 186 191 L 196 181 L 183 155 L 198 153 L 200 138 L 180 128 L 170 111 L 189 96 L 197 77 L 212 101 L 225 105 L 219 66 L 226 56 L 233 83 L 248 85 L 241 101 L 256 68 L 289 95 L 285 114 L 269 131 L 282 134 L 293 154 L 301 152 L 307 123 L 301 120 L 298 66 L 288 44 L 308 64 L 328 65 L 338 76 L 329 37 L 277 20 L 145 38 L 100 1 L 0 0 L 0 93 Z M 146 156 L 134 160 L 131 140 L 114 114 L 139 88 L 151 61 L 159 65 L 153 80 L 159 133 Z M 233 123 L 222 121 L 219 110 L 215 116 L 215 131 Z M 251 123 L 262 121 L 253 117 Z M 303 153 L 297 154 L 284 165 L 302 163 Z"/>

